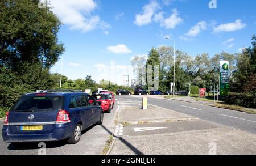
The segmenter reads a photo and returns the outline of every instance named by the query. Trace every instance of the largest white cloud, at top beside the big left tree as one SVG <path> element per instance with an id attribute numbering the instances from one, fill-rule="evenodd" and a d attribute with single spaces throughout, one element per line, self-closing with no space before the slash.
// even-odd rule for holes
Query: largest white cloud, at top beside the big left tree
<path id="1" fill-rule="evenodd" d="M 88 32 L 92 29 L 110 28 L 110 25 L 100 19 L 98 15 L 91 15 L 97 7 L 94 0 L 51 0 L 53 13 L 71 29 Z"/>

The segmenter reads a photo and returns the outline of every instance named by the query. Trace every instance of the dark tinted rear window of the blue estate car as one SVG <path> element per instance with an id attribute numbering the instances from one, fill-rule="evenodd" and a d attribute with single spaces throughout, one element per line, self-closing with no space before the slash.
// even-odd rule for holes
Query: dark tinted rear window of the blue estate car
<path id="1" fill-rule="evenodd" d="M 11 111 L 46 111 L 63 109 L 63 96 L 22 96 Z"/>

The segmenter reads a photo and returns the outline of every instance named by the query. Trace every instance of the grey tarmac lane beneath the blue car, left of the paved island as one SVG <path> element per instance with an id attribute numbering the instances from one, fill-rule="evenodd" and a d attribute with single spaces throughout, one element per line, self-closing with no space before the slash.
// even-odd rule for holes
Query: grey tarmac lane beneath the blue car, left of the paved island
<path id="1" fill-rule="evenodd" d="M 61 142 L 46 143 L 46 154 L 56 155 L 100 155 L 109 135 L 115 130 L 114 118 L 118 105 L 115 105 L 111 113 L 104 114 L 104 122 L 102 125 L 94 125 L 85 130 L 81 136 L 80 142 L 77 144 L 67 144 Z M 5 143 L 2 139 L 3 121 L 0 121 L 0 154 L 2 155 L 38 155 L 38 143 L 22 143 L 16 144 Z"/>

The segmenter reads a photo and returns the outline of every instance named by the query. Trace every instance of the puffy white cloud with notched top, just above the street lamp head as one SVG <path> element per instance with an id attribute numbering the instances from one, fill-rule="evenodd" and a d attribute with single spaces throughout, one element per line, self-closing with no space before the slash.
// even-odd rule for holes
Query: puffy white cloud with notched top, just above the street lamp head
<path id="1" fill-rule="evenodd" d="M 183 22 L 183 19 L 179 17 L 177 9 L 172 10 L 172 15 L 169 18 L 164 19 L 163 14 L 164 12 L 159 12 L 154 16 L 155 22 L 160 22 L 160 27 L 175 29 L 177 25 Z"/>

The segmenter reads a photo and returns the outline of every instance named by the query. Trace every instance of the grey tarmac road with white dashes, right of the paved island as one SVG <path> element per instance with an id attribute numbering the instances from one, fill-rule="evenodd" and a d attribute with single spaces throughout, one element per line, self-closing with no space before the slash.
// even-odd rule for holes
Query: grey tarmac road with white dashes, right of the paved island
<path id="1" fill-rule="evenodd" d="M 122 98 L 133 101 L 142 101 L 142 97 L 143 96 L 117 96 L 117 99 Z M 189 114 L 215 124 L 233 127 L 256 134 L 256 114 L 247 114 L 244 112 L 187 103 L 184 101 L 152 99 L 150 97 L 148 97 L 148 104 L 175 110 L 176 112 Z"/>

